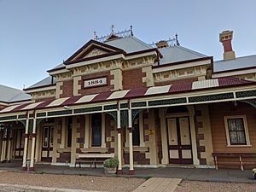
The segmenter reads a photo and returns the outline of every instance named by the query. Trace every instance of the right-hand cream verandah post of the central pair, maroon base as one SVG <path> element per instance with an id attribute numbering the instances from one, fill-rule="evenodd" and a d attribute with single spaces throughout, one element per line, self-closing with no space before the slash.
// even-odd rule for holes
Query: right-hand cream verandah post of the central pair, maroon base
<path id="1" fill-rule="evenodd" d="M 130 103 L 129 103 L 130 104 Z M 130 157 L 130 169 L 129 174 L 134 175 L 133 167 L 133 146 L 132 146 L 132 119 L 131 119 L 131 108 L 128 109 L 128 130 L 129 130 L 129 157 Z"/>

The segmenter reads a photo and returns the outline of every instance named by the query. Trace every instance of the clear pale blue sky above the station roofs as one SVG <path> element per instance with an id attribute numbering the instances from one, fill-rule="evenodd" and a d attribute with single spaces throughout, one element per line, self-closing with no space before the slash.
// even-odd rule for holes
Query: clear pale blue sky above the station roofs
<path id="1" fill-rule="evenodd" d="M 183 47 L 214 61 L 219 32 L 234 31 L 236 56 L 256 54 L 255 0 L 0 0 L 0 84 L 23 89 L 48 76 L 93 38 L 133 26 L 151 44 L 177 33 Z"/>

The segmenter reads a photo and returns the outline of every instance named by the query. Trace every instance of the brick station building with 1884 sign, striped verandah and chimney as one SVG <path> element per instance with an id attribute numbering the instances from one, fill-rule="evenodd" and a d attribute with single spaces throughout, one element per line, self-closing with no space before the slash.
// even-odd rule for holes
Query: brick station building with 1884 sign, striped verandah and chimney
<path id="1" fill-rule="evenodd" d="M 33 170 L 113 154 L 119 174 L 124 166 L 131 174 L 137 166 L 247 168 L 256 156 L 256 55 L 237 58 L 232 37 L 219 34 L 222 61 L 132 32 L 90 40 L 25 89 L 29 103 L 0 110 L 1 161 L 22 159 L 26 169 L 29 159 Z"/>

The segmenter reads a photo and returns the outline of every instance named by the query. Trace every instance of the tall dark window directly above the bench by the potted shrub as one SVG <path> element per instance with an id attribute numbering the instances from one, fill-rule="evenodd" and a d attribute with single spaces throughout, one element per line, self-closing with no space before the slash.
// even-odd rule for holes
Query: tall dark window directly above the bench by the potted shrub
<path id="1" fill-rule="evenodd" d="M 102 113 L 91 115 L 91 146 L 102 146 Z"/>

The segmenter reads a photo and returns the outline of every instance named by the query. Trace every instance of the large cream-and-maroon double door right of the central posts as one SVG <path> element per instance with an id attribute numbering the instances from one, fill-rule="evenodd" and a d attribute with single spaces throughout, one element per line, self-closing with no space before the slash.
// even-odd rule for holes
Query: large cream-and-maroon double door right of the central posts
<path id="1" fill-rule="evenodd" d="M 167 119 L 168 151 L 171 164 L 193 164 L 189 118 Z"/>

